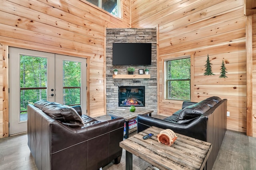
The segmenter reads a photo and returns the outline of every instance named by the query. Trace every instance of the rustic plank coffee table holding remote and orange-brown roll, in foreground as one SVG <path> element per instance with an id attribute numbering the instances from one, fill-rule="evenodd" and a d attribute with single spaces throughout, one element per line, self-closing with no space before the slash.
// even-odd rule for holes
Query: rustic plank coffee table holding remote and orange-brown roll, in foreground
<path id="1" fill-rule="evenodd" d="M 202 170 L 212 150 L 212 144 L 176 133 L 178 138 L 167 146 L 157 141 L 163 129 L 150 127 L 119 143 L 126 150 L 126 170 L 132 170 L 132 154 L 160 170 Z M 149 139 L 142 139 L 153 133 Z"/>

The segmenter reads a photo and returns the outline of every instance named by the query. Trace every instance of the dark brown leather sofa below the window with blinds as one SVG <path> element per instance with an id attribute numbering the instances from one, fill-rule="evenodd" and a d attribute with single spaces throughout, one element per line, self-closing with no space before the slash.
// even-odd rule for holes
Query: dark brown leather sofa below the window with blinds
<path id="1" fill-rule="evenodd" d="M 227 100 L 212 96 L 199 103 L 183 102 L 182 109 L 165 119 L 138 115 L 137 131 L 155 126 L 212 143 L 206 162 L 206 169 L 211 170 L 226 133 L 226 114 Z"/>

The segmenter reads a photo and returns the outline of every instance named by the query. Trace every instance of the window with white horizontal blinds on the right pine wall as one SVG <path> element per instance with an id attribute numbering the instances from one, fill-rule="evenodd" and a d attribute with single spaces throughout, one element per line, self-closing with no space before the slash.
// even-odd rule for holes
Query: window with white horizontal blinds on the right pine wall
<path id="1" fill-rule="evenodd" d="M 190 56 L 164 62 L 166 100 L 190 101 Z"/>

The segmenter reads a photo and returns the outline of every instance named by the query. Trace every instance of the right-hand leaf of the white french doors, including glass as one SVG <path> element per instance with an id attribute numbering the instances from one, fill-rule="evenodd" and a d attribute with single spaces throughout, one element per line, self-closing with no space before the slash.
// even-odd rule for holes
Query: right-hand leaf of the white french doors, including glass
<path id="1" fill-rule="evenodd" d="M 86 59 L 55 55 L 55 100 L 65 105 L 80 105 L 86 114 Z M 72 98 L 71 98 L 72 97 Z"/>

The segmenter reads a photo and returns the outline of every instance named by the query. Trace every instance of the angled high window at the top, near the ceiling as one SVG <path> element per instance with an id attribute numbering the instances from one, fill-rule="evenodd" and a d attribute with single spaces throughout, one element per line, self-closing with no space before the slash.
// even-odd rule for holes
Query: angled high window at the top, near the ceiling
<path id="1" fill-rule="evenodd" d="M 103 10 L 109 12 L 110 14 L 121 17 L 120 15 L 120 0 L 86 0 L 91 4 L 102 8 Z"/>

